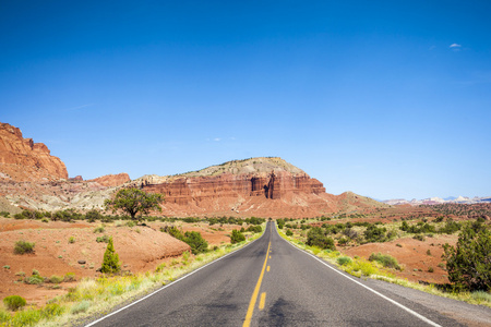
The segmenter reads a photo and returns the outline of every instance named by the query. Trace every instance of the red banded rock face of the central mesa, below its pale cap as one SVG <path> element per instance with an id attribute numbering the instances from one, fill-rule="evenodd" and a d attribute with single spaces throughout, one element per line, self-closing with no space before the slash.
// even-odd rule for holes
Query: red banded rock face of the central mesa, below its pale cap
<path id="1" fill-rule="evenodd" d="M 160 183 L 144 182 L 141 187 L 164 194 L 163 208 L 168 215 L 307 217 L 337 208 L 323 184 L 303 172 L 227 172 L 214 177 L 181 177 Z"/>

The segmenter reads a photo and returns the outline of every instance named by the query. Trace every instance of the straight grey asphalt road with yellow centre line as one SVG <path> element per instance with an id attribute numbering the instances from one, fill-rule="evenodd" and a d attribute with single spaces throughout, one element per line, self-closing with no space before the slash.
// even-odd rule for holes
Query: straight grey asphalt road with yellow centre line
<path id="1" fill-rule="evenodd" d="M 431 295 L 429 295 L 431 296 Z M 462 326 L 263 237 L 95 326 Z"/>

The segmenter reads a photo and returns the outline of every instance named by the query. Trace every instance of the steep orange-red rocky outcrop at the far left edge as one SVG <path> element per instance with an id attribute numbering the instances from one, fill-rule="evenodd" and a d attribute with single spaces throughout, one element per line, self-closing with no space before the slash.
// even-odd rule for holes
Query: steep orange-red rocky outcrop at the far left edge
<path id="1" fill-rule="evenodd" d="M 64 164 L 43 143 L 24 138 L 20 129 L 0 123 L 0 178 L 13 181 L 68 179 Z"/>

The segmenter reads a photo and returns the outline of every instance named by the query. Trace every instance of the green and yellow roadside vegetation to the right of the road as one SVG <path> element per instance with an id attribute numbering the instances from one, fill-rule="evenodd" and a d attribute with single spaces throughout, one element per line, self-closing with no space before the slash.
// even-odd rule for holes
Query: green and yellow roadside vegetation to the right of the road
<path id="1" fill-rule="evenodd" d="M 346 216 L 338 217 L 328 220 L 349 220 Z M 393 221 L 392 223 L 367 221 L 325 223 L 327 219 L 278 219 L 278 231 L 283 238 L 296 246 L 338 266 L 339 269 L 352 276 L 381 279 L 491 307 L 491 226 L 482 217 L 478 216 L 476 219 L 466 221 L 455 221 L 452 217 L 444 219 L 443 216 L 421 217 L 416 221 L 404 219 L 402 222 Z M 348 245 L 354 247 L 409 237 L 424 240 L 434 234 L 454 233 L 458 233 L 458 242 L 455 246 L 443 244 L 442 261 L 444 263 L 441 265 L 441 268 L 448 274 L 450 283 L 416 283 L 397 278 L 396 272 L 404 270 L 405 267 L 388 254 L 372 253 L 368 259 L 363 259 L 342 253 Z M 396 246 L 402 245 L 396 243 Z M 337 251 L 339 249 L 343 250 Z M 430 250 L 427 255 L 432 255 Z M 428 268 L 429 272 L 433 270 L 434 267 Z"/>

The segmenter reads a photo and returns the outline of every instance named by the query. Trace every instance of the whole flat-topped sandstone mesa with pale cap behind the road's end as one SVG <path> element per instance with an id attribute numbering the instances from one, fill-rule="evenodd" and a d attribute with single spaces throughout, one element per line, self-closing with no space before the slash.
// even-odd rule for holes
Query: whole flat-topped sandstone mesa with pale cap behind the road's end
<path id="1" fill-rule="evenodd" d="M 338 211 L 338 197 L 282 158 L 251 158 L 172 177 L 146 175 L 134 186 L 165 195 L 168 216 L 316 217 Z"/>

